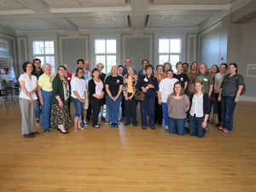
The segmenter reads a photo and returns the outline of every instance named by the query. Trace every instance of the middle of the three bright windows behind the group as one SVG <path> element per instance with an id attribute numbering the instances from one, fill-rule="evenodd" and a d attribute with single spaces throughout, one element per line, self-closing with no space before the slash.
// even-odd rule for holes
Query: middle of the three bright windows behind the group
<path id="1" fill-rule="evenodd" d="M 104 65 L 103 73 L 109 73 L 111 67 L 116 66 L 116 39 L 96 39 L 95 41 L 96 64 Z"/>

